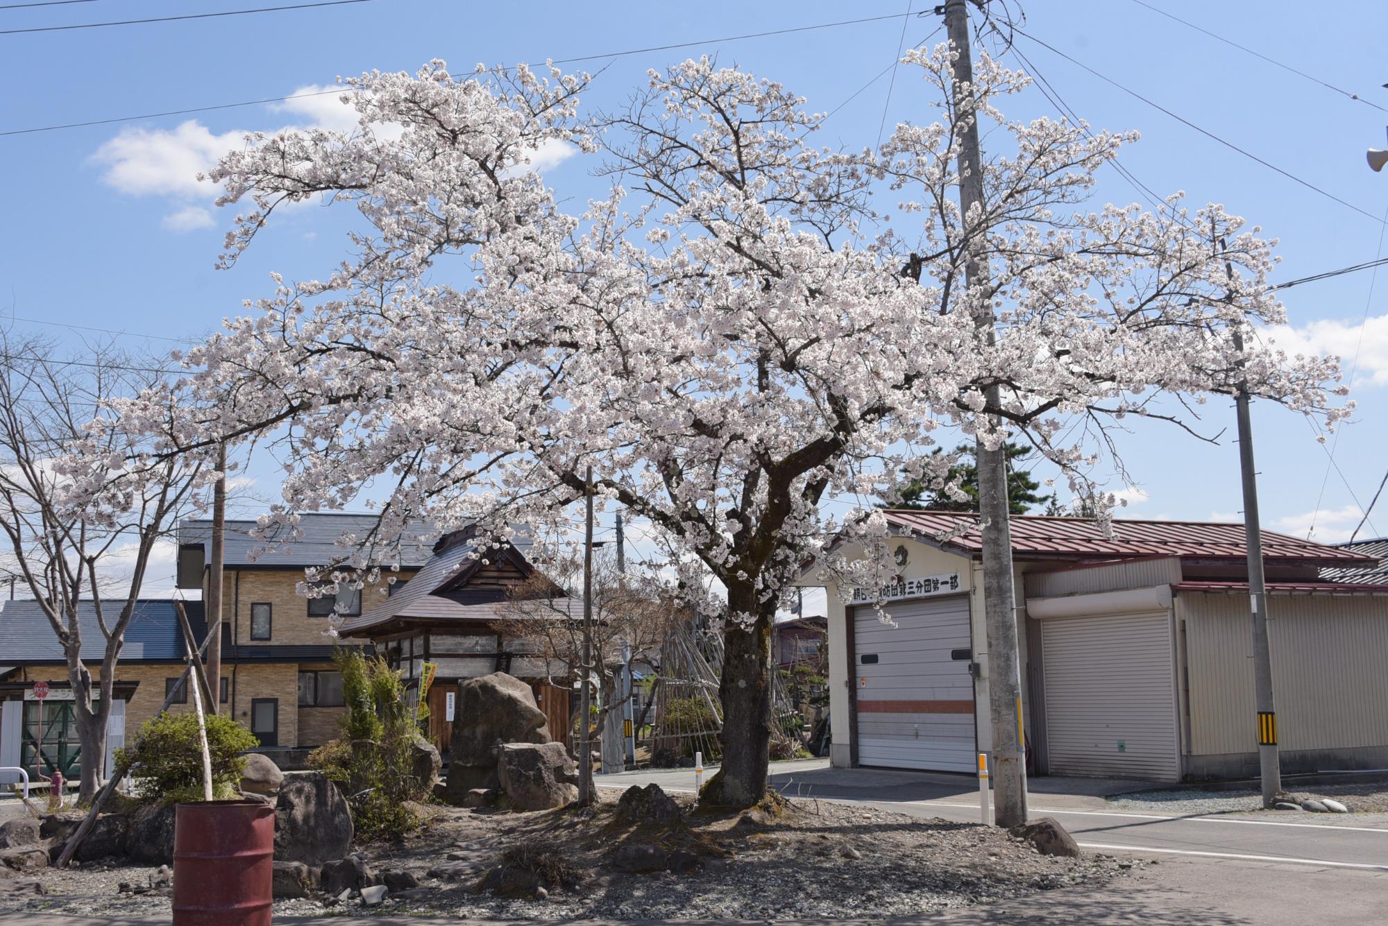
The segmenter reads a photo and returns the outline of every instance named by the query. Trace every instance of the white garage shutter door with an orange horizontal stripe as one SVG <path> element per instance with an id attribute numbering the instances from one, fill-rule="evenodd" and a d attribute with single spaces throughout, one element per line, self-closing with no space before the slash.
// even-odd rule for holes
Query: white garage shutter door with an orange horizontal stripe
<path id="1" fill-rule="evenodd" d="M 976 769 L 969 596 L 854 609 L 858 764 Z M 963 658 L 955 658 L 956 653 Z"/>

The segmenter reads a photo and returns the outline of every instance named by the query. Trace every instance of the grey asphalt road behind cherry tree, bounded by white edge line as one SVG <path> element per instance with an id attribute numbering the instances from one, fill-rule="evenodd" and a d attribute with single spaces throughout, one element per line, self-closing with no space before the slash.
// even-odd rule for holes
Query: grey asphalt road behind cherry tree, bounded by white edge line
<path id="1" fill-rule="evenodd" d="M 694 790 L 690 769 L 601 775 L 601 787 L 657 782 L 666 790 Z M 916 816 L 979 822 L 974 779 L 962 775 L 834 769 L 823 760 L 773 767 L 773 786 L 787 797 L 873 804 Z M 1151 787 L 1141 782 L 1037 779 L 1031 816 L 1053 816 L 1076 841 L 1095 851 L 1152 858 L 1238 859 L 1259 864 L 1312 865 L 1381 873 L 1388 879 L 1388 815 L 1323 816 L 1219 814 L 1171 816 L 1160 812 L 1108 810 L 1105 793 Z M 1384 915 L 1388 922 L 1388 914 Z"/>

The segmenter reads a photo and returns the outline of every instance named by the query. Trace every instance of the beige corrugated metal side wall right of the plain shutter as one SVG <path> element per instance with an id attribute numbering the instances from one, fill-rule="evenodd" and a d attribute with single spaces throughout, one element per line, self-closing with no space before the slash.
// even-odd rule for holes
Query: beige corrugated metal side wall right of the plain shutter
<path id="1" fill-rule="evenodd" d="M 1181 592 L 1191 754 L 1258 749 L 1246 595 Z M 1388 744 L 1388 599 L 1269 596 L 1277 735 L 1284 750 Z"/>

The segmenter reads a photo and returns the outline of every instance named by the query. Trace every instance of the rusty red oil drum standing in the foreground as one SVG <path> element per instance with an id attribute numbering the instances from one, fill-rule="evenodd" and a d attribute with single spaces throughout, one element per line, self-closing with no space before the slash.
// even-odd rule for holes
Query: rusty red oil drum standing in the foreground
<path id="1" fill-rule="evenodd" d="M 179 804 L 174 926 L 269 926 L 275 810 L 260 801 Z"/>

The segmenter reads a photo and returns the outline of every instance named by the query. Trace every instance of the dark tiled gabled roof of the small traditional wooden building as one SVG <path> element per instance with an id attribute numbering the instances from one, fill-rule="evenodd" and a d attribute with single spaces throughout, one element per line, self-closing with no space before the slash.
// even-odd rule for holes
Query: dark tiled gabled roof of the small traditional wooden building
<path id="1" fill-rule="evenodd" d="M 468 588 L 468 577 L 479 561 L 471 556 L 472 545 L 465 536 L 441 543 L 432 560 L 425 563 L 404 588 L 387 597 L 379 606 L 348 618 L 339 628 L 341 636 L 361 634 L 371 628 L 393 622 L 434 622 L 434 621 L 482 621 L 493 622 L 501 617 L 500 609 L 505 595 L 500 589 Z M 522 571 L 533 567 L 525 554 L 515 548 L 504 548 L 497 554 L 509 556 Z M 583 610 L 580 599 L 558 599 L 569 613 L 579 617 Z"/>

